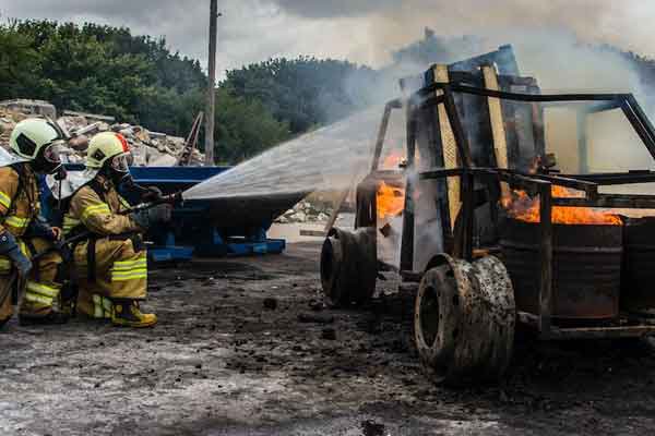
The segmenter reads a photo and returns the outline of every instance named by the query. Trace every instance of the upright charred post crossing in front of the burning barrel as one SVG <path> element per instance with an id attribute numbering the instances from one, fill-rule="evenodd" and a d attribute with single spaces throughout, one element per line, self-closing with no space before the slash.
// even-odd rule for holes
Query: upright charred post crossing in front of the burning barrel
<path id="1" fill-rule="evenodd" d="M 539 257 L 541 274 L 539 277 L 539 331 L 544 337 L 550 334 L 552 313 L 552 194 L 550 183 L 539 183 Z"/>

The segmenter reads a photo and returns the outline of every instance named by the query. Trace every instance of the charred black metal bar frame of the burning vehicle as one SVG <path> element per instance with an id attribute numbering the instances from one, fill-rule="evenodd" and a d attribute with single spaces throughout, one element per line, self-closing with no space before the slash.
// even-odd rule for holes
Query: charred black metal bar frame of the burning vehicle
<path id="1" fill-rule="evenodd" d="M 436 95 L 436 90 L 441 93 Z M 585 175 L 556 175 L 549 173 L 525 173 L 501 168 L 476 168 L 471 159 L 471 149 L 462 122 L 457 113 L 453 93 L 464 93 L 504 100 L 544 102 L 558 106 L 571 101 L 598 101 L 586 113 L 620 108 L 629 122 L 644 143 L 646 149 L 655 159 L 655 129 L 650 122 L 635 98 L 631 94 L 557 94 L 535 95 L 491 90 L 452 83 L 434 83 L 415 93 L 407 109 L 407 160 L 412 168 L 415 164 L 416 148 L 416 112 L 430 105 L 444 105 L 450 124 L 455 136 L 457 150 L 461 156 L 461 167 L 454 169 L 436 168 L 422 171 L 419 180 L 458 177 L 462 181 L 462 217 L 463 230 L 455 234 L 453 254 L 467 261 L 473 259 L 473 215 L 474 215 L 474 181 L 486 183 L 509 183 L 514 187 L 524 189 L 531 194 L 539 195 L 540 211 L 540 262 L 539 278 L 539 313 L 519 313 L 520 322 L 538 329 L 540 339 L 580 339 L 580 338 L 616 338 L 634 337 L 655 332 L 655 322 L 628 316 L 628 325 L 612 327 L 577 327 L 562 328 L 552 325 L 552 207 L 603 207 L 603 208 L 655 208 L 655 195 L 617 195 L 602 194 L 598 186 L 615 184 L 633 184 L 655 181 L 655 172 L 629 171 L 623 173 L 599 173 Z M 379 157 L 377 154 L 376 156 Z M 374 167 L 376 168 L 376 167 Z M 553 197 L 552 185 L 575 189 L 584 192 L 581 198 Z M 406 198 L 410 201 L 414 185 L 409 181 L 406 186 Z M 412 271 L 413 265 L 413 230 L 414 214 L 406 206 L 406 219 L 403 233 L 401 270 L 404 277 L 417 276 Z M 409 223 L 410 221 L 410 223 Z M 408 267 L 408 268 L 407 268 Z"/>

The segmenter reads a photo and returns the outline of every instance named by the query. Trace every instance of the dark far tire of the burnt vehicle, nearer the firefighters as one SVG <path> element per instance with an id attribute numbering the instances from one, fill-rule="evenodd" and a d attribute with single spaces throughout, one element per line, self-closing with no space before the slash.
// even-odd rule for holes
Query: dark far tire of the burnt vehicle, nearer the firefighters
<path id="1" fill-rule="evenodd" d="M 378 257 L 373 228 L 332 229 L 321 251 L 321 284 L 334 307 L 361 305 L 376 292 Z"/>

